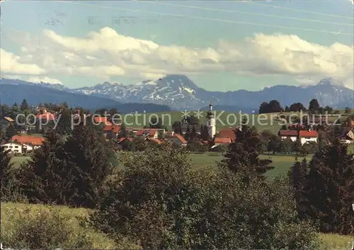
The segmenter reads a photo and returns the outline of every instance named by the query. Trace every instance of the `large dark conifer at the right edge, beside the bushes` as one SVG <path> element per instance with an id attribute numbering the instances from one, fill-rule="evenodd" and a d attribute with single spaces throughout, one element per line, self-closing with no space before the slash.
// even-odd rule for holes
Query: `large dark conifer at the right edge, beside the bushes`
<path id="1" fill-rule="evenodd" d="M 353 234 L 354 155 L 333 134 L 309 163 L 304 182 L 307 215 L 321 232 Z"/>

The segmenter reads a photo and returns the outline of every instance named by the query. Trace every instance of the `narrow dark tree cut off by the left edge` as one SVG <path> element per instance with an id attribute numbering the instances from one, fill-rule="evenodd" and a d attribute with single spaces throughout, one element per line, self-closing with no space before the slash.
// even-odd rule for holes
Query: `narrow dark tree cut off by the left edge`
<path id="1" fill-rule="evenodd" d="M 4 141 L 0 139 L 0 181 L 1 181 L 1 201 L 11 195 L 11 184 L 13 184 L 13 163 L 11 163 L 10 150 L 2 145 Z"/>

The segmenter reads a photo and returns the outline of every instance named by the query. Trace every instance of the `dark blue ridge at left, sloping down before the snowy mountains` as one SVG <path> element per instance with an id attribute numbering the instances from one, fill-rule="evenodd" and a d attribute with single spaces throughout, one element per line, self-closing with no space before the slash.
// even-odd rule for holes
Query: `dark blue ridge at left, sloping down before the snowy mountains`
<path id="1" fill-rule="evenodd" d="M 20 104 L 23 99 L 27 100 L 30 105 L 38 105 L 40 102 L 52 102 L 59 104 L 67 102 L 69 107 L 83 107 L 84 109 L 96 110 L 99 108 L 115 107 L 122 114 L 131 112 L 161 112 L 170 111 L 170 107 L 166 105 L 141 104 L 141 103 L 122 103 L 112 100 L 108 97 L 97 97 L 91 95 L 83 95 L 80 93 L 70 93 L 59 88 L 48 88 L 48 86 L 16 82 L 11 80 L 4 83 L 1 81 L 1 99 L 2 105 L 13 105 L 14 102 Z M 10 83 L 10 84 L 9 84 Z"/>

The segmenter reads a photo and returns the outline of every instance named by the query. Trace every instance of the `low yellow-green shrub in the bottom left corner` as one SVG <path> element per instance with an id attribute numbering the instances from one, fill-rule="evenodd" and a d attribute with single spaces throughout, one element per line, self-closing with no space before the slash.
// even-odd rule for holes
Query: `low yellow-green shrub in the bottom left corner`
<path id="1" fill-rule="evenodd" d="M 1 242 L 16 249 L 91 249 L 93 239 L 71 225 L 70 217 L 50 207 L 20 210 L 7 208 L 1 216 Z M 6 217 L 7 217 L 6 216 Z"/>

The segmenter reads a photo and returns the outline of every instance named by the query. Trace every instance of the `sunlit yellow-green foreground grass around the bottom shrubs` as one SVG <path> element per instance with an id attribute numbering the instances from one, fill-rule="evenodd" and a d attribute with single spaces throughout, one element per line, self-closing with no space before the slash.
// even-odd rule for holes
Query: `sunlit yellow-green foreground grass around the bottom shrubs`
<path id="1" fill-rule="evenodd" d="M 39 213 L 40 209 L 44 206 L 41 205 L 28 205 L 23 203 L 1 203 L 1 232 L 4 232 L 8 227 L 11 227 L 11 215 L 15 211 L 23 211 L 26 208 L 30 208 L 30 213 Z M 55 209 L 62 210 L 62 212 L 70 215 L 72 220 L 69 221 L 74 227 L 79 230 L 79 222 L 76 219 L 78 215 L 87 215 L 89 210 L 84 208 L 68 208 L 65 206 L 55 206 Z M 113 241 L 105 237 L 103 234 L 96 232 L 91 232 L 91 237 L 93 237 L 95 242 L 95 249 L 115 249 L 116 245 Z M 350 249 L 353 237 L 341 236 L 338 234 L 319 234 L 319 239 L 321 239 L 321 249 L 332 250 L 332 249 Z"/>

